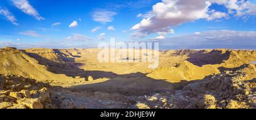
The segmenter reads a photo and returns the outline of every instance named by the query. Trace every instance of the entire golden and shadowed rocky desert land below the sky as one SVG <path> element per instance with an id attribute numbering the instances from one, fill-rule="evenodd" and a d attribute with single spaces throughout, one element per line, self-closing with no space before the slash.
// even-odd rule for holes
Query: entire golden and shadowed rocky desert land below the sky
<path id="1" fill-rule="evenodd" d="M 0 108 L 256 108 L 254 50 L 162 51 L 154 70 L 98 52 L 0 49 Z"/>

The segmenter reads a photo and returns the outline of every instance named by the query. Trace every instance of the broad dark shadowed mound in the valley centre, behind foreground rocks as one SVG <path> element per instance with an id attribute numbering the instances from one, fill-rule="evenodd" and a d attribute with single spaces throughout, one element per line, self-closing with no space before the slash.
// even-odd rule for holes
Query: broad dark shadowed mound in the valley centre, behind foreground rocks
<path id="1" fill-rule="evenodd" d="M 196 81 L 197 80 L 193 82 Z M 115 78 L 101 83 L 76 85 L 67 89 L 73 92 L 89 91 L 137 96 L 167 91 L 175 93 L 175 89 L 182 89 L 185 85 L 193 82 L 183 80 L 179 83 L 170 83 L 166 80 L 152 79 L 147 77 L 146 74 L 137 72 L 133 74 L 117 75 Z"/>

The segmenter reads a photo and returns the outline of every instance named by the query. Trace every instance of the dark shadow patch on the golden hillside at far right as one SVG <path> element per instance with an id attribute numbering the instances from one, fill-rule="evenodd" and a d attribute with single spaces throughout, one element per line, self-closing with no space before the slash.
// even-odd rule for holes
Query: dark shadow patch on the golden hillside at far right
<path id="1" fill-rule="evenodd" d="M 230 52 L 222 54 L 220 50 L 212 50 L 209 53 L 205 53 L 204 50 L 201 50 L 196 53 L 191 53 L 188 55 L 187 61 L 193 63 L 193 65 L 202 67 L 204 65 L 216 65 L 221 64 L 224 61 L 228 60 Z"/>

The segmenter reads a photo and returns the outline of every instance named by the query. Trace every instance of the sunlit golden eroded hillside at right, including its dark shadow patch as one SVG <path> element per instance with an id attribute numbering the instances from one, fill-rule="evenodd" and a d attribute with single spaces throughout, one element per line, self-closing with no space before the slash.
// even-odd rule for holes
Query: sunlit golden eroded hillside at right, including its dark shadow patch
<path id="1" fill-rule="evenodd" d="M 171 67 L 166 67 L 164 63 L 147 76 L 154 79 L 167 79 L 171 82 L 201 80 L 208 75 L 220 74 L 224 70 L 249 64 L 256 59 L 254 50 L 169 50 L 164 52 L 165 55 L 174 58 L 183 56 L 185 59 L 174 63 Z"/>

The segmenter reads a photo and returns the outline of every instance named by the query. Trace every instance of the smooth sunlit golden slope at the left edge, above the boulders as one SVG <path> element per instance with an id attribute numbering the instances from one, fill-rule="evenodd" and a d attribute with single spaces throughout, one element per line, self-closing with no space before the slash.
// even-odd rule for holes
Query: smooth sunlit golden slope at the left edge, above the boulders
<path id="1" fill-rule="evenodd" d="M 36 57 L 30 56 L 24 50 L 13 48 L 0 49 L 0 74 L 20 75 L 48 83 L 69 83 L 79 81 L 65 74 L 55 74 L 48 70 L 49 66 L 40 64 Z M 44 61 L 47 62 L 47 61 Z M 80 79 L 82 80 L 82 79 Z"/>

